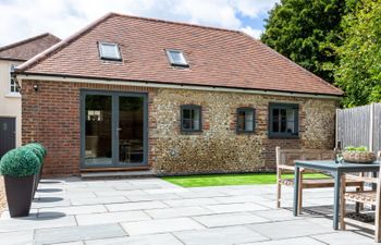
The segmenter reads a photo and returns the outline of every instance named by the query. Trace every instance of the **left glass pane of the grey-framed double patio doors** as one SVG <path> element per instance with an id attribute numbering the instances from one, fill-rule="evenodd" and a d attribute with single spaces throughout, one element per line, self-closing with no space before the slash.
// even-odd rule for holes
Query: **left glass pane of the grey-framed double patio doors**
<path id="1" fill-rule="evenodd" d="M 86 95 L 85 164 L 112 164 L 112 97 Z"/>

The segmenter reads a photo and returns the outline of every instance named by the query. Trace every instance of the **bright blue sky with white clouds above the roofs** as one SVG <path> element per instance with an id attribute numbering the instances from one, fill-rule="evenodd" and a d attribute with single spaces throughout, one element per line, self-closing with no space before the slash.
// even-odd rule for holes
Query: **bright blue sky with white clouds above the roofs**
<path id="1" fill-rule="evenodd" d="M 241 29 L 254 37 L 279 0 L 0 0 L 0 46 L 51 33 L 66 38 L 108 12 Z"/>

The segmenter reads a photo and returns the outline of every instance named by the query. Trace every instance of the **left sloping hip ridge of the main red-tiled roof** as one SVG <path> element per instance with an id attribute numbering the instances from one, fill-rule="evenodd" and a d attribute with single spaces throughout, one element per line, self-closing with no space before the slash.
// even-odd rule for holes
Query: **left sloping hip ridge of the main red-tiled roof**
<path id="1" fill-rule="evenodd" d="M 73 35 L 71 35 L 71 36 L 66 37 L 65 39 L 61 40 L 60 42 L 51 46 L 50 48 L 46 49 L 45 51 L 36 54 L 35 57 L 30 58 L 29 60 L 27 60 L 26 62 L 24 62 L 20 66 L 17 66 L 16 72 L 17 71 L 23 72 L 26 69 L 30 69 L 32 66 L 34 66 L 37 63 L 41 62 L 42 60 L 47 59 L 50 54 L 58 52 L 59 50 L 66 47 L 67 45 L 70 45 L 74 40 L 78 39 L 84 34 L 91 30 L 94 27 L 96 27 L 97 25 L 99 25 L 100 23 L 102 23 L 103 21 L 106 21 L 107 19 L 109 19 L 112 15 L 113 15 L 113 13 L 105 14 L 100 19 L 91 22 L 90 24 L 88 24 L 84 28 L 79 29 L 78 32 L 74 33 Z"/>

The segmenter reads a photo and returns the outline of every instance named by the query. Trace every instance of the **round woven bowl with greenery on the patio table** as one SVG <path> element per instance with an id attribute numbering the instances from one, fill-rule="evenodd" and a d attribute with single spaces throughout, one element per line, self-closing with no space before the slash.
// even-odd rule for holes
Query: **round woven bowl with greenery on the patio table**
<path id="1" fill-rule="evenodd" d="M 376 161 L 376 154 L 373 151 L 368 151 L 366 146 L 348 146 L 345 147 L 343 151 L 343 159 L 346 162 L 371 163 Z"/>

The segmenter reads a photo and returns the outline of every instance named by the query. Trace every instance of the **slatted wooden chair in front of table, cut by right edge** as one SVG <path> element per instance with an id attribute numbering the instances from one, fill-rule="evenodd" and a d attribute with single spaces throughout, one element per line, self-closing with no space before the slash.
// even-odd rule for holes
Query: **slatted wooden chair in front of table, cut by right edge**
<path id="1" fill-rule="evenodd" d="M 378 159 L 381 159 L 381 151 L 378 152 Z M 380 169 L 381 170 L 381 169 Z M 346 182 L 348 180 L 347 175 L 342 176 L 342 186 L 341 186 L 341 200 L 340 200 L 340 226 L 341 230 L 345 230 L 346 223 L 355 224 L 358 226 L 364 226 L 368 230 L 374 231 L 374 241 L 377 243 L 381 242 L 381 226 L 380 226 L 380 218 L 381 218 L 381 174 L 379 177 L 367 177 L 367 176 L 349 176 L 351 180 L 356 179 L 357 181 L 361 181 L 362 183 L 371 183 L 377 184 L 376 191 L 365 191 L 365 189 L 356 189 L 355 192 L 346 192 Z M 354 201 L 356 204 L 370 205 L 376 207 L 374 209 L 374 223 L 367 223 L 357 221 L 351 218 L 346 218 L 346 201 Z M 356 210 L 358 212 L 358 210 Z"/>

